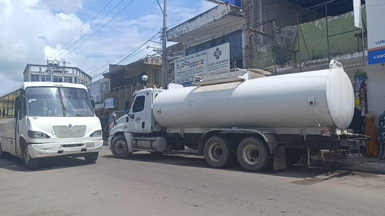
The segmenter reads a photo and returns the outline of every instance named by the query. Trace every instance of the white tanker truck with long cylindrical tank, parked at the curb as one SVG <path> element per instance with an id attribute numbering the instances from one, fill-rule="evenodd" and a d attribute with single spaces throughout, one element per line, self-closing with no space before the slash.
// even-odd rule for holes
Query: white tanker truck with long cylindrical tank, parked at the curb
<path id="1" fill-rule="evenodd" d="M 360 134 L 347 129 L 354 111 L 349 77 L 338 61 L 329 69 L 200 81 L 134 93 L 132 107 L 114 120 L 108 145 L 115 157 L 145 150 L 198 149 L 207 163 L 238 160 L 249 171 L 285 168 L 309 149 L 357 149 Z M 355 137 L 355 138 L 351 138 Z M 304 157 L 303 157 L 304 158 Z M 307 157 L 306 157 L 307 158 Z"/>

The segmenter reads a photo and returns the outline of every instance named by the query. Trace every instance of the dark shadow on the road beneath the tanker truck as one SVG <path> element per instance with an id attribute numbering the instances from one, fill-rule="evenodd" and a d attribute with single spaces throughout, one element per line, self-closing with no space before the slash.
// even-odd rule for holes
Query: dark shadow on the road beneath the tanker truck
<path id="1" fill-rule="evenodd" d="M 106 159 L 116 159 L 113 155 L 103 155 L 102 157 Z M 144 162 L 153 162 L 153 163 L 162 163 L 162 164 L 171 164 L 171 165 L 180 165 L 180 166 L 190 166 L 190 167 L 203 167 L 209 169 L 215 169 L 207 165 L 203 156 L 197 156 L 183 153 L 172 153 L 172 154 L 162 154 L 162 155 L 152 155 L 150 153 L 133 153 L 132 157 L 121 158 L 123 160 L 131 161 L 144 161 Z M 282 177 L 293 177 L 293 178 L 302 178 L 309 180 L 309 178 L 319 178 L 322 177 L 322 180 L 329 180 L 336 177 L 343 177 L 346 175 L 354 175 L 351 171 L 340 171 L 331 168 L 321 168 L 321 167 L 307 167 L 303 165 L 294 165 L 286 169 L 279 170 L 268 170 L 264 172 L 248 172 L 242 169 L 242 167 L 236 163 L 230 168 L 225 168 L 222 170 L 231 170 L 236 172 L 247 172 L 250 174 L 266 174 Z M 295 182 L 293 182 L 295 183 Z M 310 181 L 298 181 L 297 184 L 311 184 Z"/>

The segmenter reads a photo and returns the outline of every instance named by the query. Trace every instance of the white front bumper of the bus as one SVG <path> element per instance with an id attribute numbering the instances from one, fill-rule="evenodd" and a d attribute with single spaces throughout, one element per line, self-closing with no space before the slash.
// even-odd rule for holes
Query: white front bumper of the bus
<path id="1" fill-rule="evenodd" d="M 82 142 L 30 143 L 28 145 L 28 152 L 32 158 L 52 157 L 99 152 L 102 147 L 102 139 Z"/>

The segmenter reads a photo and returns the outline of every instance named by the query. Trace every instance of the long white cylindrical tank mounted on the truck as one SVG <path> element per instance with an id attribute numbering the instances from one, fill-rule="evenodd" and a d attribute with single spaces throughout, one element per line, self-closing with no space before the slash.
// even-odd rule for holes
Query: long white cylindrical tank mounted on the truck
<path id="1" fill-rule="evenodd" d="M 160 92 L 164 127 L 337 127 L 353 117 L 354 93 L 343 67 Z"/>

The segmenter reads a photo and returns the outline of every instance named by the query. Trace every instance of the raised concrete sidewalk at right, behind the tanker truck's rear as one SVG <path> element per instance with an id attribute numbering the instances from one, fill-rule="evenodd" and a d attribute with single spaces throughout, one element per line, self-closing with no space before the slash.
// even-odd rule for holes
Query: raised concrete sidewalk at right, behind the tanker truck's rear
<path id="1" fill-rule="evenodd" d="M 325 154 L 324 159 L 320 159 L 318 156 L 311 156 L 311 159 L 311 164 L 317 166 L 385 173 L 385 159 L 369 157 L 344 159 L 341 158 L 340 154 L 333 153 Z"/>

